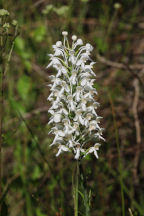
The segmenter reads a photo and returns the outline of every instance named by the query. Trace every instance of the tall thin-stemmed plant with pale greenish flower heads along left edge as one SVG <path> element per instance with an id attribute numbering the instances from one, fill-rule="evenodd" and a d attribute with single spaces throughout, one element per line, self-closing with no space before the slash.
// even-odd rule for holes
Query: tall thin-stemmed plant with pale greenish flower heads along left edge
<path id="1" fill-rule="evenodd" d="M 0 9 L 0 212 L 3 214 L 2 205 L 2 147 L 3 147 L 3 117 L 4 117 L 4 82 L 8 72 L 9 62 L 14 48 L 14 41 L 18 35 L 16 20 L 9 18 L 9 12 Z M 4 206 L 5 208 L 5 206 Z"/>

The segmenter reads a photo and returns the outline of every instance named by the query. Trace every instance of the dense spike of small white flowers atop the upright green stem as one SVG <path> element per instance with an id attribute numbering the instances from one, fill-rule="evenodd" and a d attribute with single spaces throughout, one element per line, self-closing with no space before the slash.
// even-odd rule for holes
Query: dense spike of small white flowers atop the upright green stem
<path id="1" fill-rule="evenodd" d="M 92 68 L 95 62 L 90 58 L 93 47 L 83 45 L 81 39 L 72 36 L 72 46 L 68 42 L 68 32 L 62 32 L 63 43 L 57 41 L 53 45 L 54 54 L 50 54 L 50 64 L 57 74 L 51 75 L 51 93 L 48 100 L 52 106 L 49 109 L 53 124 L 50 133 L 54 134 L 51 144 L 58 146 L 56 156 L 62 152 L 71 151 L 75 159 L 81 159 L 89 153 L 98 158 L 99 140 L 103 129 L 99 126 L 100 116 L 96 109 L 99 103 L 93 87 L 95 73 Z M 90 145 L 91 143 L 91 145 Z"/>

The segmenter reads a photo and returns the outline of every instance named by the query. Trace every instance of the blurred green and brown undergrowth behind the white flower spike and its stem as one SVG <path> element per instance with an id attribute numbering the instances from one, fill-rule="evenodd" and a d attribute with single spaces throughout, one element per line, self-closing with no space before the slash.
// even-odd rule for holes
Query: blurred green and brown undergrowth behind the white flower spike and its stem
<path id="1" fill-rule="evenodd" d="M 1 0 L 19 24 L 4 83 L 2 216 L 73 215 L 70 154 L 49 148 L 49 63 L 61 32 L 94 46 L 106 142 L 84 161 L 92 216 L 144 215 L 144 1 Z M 121 173 L 121 174 L 120 174 Z M 80 203 L 82 209 L 82 200 Z M 85 214 L 83 214 L 85 215 Z"/>

